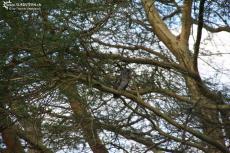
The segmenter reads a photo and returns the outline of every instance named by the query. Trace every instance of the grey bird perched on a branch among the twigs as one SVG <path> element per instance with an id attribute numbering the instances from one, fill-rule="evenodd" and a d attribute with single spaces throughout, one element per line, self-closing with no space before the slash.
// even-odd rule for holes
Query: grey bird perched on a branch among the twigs
<path id="1" fill-rule="evenodd" d="M 125 90 L 128 87 L 129 81 L 131 79 L 131 70 L 130 69 L 122 69 L 121 74 L 117 83 L 114 85 L 117 90 Z M 114 98 L 118 98 L 120 95 L 114 94 Z"/>

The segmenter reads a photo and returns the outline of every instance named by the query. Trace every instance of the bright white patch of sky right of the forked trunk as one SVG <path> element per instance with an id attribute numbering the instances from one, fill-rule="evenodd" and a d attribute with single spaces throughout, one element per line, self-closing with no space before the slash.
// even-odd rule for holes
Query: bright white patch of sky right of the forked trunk
<path id="1" fill-rule="evenodd" d="M 193 26 L 194 37 L 190 37 L 191 48 L 196 39 L 196 29 L 197 26 Z M 200 48 L 198 65 L 202 78 L 210 78 L 212 79 L 210 81 L 230 86 L 230 33 L 210 33 L 203 30 Z"/>

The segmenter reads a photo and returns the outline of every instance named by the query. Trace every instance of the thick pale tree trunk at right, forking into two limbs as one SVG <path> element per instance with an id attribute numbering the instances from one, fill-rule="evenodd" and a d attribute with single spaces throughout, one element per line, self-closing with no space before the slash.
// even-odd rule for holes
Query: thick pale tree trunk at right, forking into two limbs
<path id="1" fill-rule="evenodd" d="M 187 89 L 190 93 L 191 98 L 197 103 L 216 104 L 217 101 L 209 97 L 210 91 L 203 84 L 199 72 L 194 66 L 194 57 L 189 50 L 189 36 L 191 31 L 191 9 L 192 1 L 184 1 L 182 9 L 182 28 L 179 37 L 176 37 L 161 19 L 161 16 L 154 6 L 154 1 L 152 0 L 142 0 L 143 6 L 148 18 L 150 25 L 157 37 L 165 44 L 165 46 L 170 50 L 170 52 L 176 57 L 179 65 L 184 69 L 187 74 L 184 74 L 184 79 L 186 81 Z M 197 60 L 197 59 L 196 59 Z M 197 66 L 197 65 L 196 65 Z M 191 76 L 191 74 L 193 76 Z M 195 107 L 203 133 L 212 137 L 224 146 L 223 132 L 220 127 L 216 125 L 220 122 L 217 110 L 206 110 L 204 108 Z M 197 114 L 197 115 L 198 115 Z M 206 144 L 209 153 L 218 153 L 218 149 L 212 145 Z"/>

